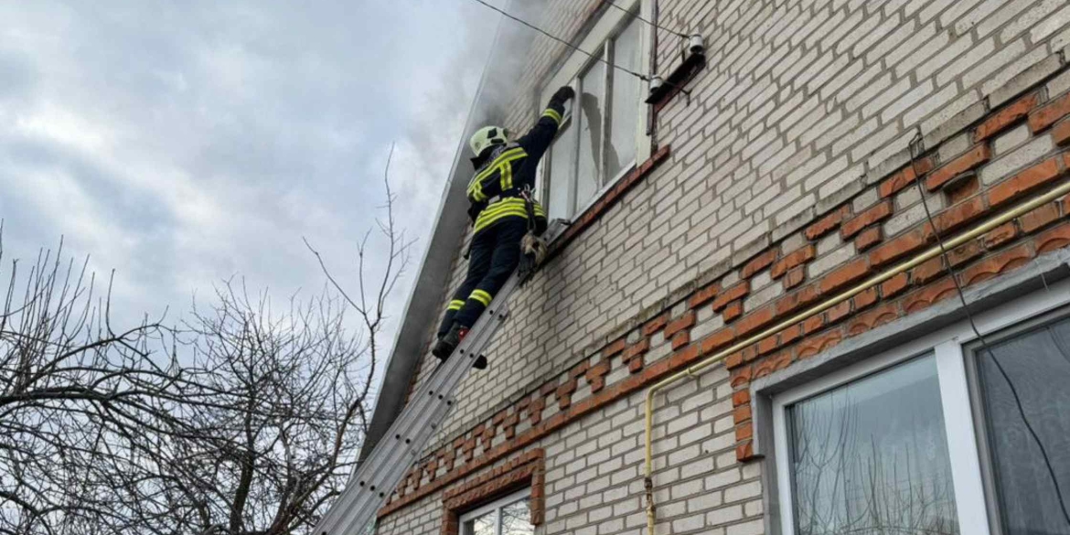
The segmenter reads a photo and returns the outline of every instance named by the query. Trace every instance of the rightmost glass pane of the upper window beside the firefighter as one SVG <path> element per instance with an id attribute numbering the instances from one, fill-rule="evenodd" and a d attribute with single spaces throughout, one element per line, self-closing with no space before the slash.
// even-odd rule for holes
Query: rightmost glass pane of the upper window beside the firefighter
<path id="1" fill-rule="evenodd" d="M 613 43 L 613 63 L 629 71 L 639 71 L 639 22 L 632 19 Z M 612 104 L 610 105 L 610 137 L 606 149 L 606 179 L 615 178 L 636 160 L 636 128 L 639 125 L 640 80 L 613 70 Z"/>

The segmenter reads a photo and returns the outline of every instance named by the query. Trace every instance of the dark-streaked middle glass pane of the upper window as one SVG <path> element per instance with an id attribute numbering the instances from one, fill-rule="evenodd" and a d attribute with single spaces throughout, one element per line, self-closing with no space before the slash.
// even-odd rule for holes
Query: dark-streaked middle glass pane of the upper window
<path id="1" fill-rule="evenodd" d="M 606 106 L 606 64 L 597 62 L 580 77 L 579 102 L 574 119 L 580 128 L 579 168 L 576 173 L 577 209 L 594 197 L 601 184 L 602 110 Z"/>

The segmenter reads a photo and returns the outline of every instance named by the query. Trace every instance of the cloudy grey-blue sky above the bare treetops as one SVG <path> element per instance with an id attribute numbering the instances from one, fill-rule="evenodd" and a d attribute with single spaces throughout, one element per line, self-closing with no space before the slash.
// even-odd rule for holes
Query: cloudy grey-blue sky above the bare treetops
<path id="1" fill-rule="evenodd" d="M 0 1 L 0 277 L 62 238 L 116 270 L 116 316 L 173 322 L 235 276 L 316 293 L 307 238 L 352 287 L 396 143 L 415 244 L 392 341 L 498 17 L 470 0 Z"/>

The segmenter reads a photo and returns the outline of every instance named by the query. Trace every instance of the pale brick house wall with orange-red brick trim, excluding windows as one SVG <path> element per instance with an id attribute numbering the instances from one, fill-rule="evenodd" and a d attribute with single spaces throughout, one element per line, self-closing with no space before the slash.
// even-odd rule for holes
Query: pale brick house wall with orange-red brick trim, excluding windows
<path id="1" fill-rule="evenodd" d="M 596 3 L 551 2 L 544 27 L 576 34 L 576 14 Z M 699 31 L 709 49 L 690 97 L 656 113 L 662 157 L 514 295 L 490 369 L 465 380 L 380 533 L 433 533 L 442 489 L 533 447 L 546 452 L 542 533 L 639 533 L 646 385 L 933 243 L 914 169 L 951 235 L 1070 168 L 1070 122 L 1056 122 L 1070 113 L 1061 2 L 657 4 L 660 24 Z M 678 62 L 677 44 L 659 33 L 658 73 Z M 509 126 L 535 117 L 561 48 L 536 40 Z M 918 127 L 927 152 L 912 167 Z M 953 251 L 964 284 L 1066 246 L 1066 215 L 1042 207 Z M 953 295 L 942 268 L 897 276 L 669 391 L 659 533 L 763 533 L 749 382 Z"/>

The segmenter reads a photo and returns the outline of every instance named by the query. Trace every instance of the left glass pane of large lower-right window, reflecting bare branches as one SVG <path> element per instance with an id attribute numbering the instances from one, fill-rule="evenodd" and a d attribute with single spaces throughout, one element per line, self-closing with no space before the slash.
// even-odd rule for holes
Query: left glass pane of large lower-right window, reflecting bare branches
<path id="1" fill-rule="evenodd" d="M 933 355 L 788 408 L 795 533 L 959 533 Z"/>

